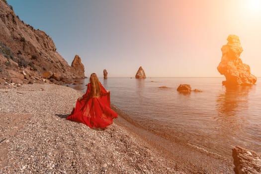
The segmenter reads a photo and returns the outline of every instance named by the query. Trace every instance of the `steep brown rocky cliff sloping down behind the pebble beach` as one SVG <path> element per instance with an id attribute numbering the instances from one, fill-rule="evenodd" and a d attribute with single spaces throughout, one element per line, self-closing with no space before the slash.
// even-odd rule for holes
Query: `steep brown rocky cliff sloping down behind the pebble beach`
<path id="1" fill-rule="evenodd" d="M 17 78 L 10 70 L 22 74 L 22 81 L 42 81 L 45 72 L 60 75 L 57 81 L 84 78 L 68 65 L 56 51 L 51 37 L 34 29 L 15 15 L 5 0 L 0 0 L 0 79 Z"/>

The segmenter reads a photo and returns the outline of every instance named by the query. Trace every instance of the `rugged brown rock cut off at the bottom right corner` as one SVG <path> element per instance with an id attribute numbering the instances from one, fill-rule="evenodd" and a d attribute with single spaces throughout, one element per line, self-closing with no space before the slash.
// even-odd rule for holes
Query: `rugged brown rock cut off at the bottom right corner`
<path id="1" fill-rule="evenodd" d="M 232 149 L 235 174 L 261 174 L 261 156 L 241 147 Z"/>

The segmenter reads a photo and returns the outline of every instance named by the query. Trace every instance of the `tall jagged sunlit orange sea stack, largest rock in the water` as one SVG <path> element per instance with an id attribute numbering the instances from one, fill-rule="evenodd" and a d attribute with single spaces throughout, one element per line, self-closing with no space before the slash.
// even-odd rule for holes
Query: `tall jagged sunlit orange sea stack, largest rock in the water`
<path id="1" fill-rule="evenodd" d="M 217 70 L 226 77 L 225 86 L 251 86 L 257 82 L 256 76 L 250 73 L 250 66 L 243 64 L 239 58 L 243 51 L 239 37 L 229 35 L 228 43 L 221 48 L 222 58 Z"/>

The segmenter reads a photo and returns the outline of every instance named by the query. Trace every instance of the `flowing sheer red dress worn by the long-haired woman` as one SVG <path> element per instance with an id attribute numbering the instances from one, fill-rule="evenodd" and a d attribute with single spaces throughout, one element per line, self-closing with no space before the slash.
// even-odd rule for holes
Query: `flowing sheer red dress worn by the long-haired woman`
<path id="1" fill-rule="evenodd" d="M 71 115 L 66 119 L 81 122 L 92 127 L 104 128 L 112 124 L 112 119 L 118 114 L 110 108 L 110 93 L 100 84 L 101 93 L 99 97 L 90 96 L 90 83 L 82 100 L 77 100 Z"/>

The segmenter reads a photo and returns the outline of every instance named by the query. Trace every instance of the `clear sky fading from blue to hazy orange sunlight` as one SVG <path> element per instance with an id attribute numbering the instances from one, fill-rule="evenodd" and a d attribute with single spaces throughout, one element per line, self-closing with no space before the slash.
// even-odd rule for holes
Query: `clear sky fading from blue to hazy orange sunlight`
<path id="1" fill-rule="evenodd" d="M 240 37 L 243 63 L 261 77 L 261 0 L 7 0 L 25 23 L 45 31 L 85 75 L 223 77 L 227 37 Z"/>

